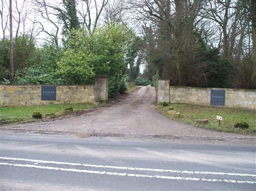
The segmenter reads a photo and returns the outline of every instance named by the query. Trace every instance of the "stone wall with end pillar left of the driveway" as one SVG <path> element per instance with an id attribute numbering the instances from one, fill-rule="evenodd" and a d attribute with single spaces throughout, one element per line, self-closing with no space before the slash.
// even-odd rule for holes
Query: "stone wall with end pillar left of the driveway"
<path id="1" fill-rule="evenodd" d="M 103 77 L 103 80 L 100 80 L 100 83 L 96 83 L 97 90 L 95 85 L 52 85 L 56 86 L 56 101 L 46 101 L 41 99 L 42 86 L 44 85 L 10 86 L 1 84 L 0 107 L 60 103 L 95 103 L 107 100 L 107 80 L 105 77 Z"/>

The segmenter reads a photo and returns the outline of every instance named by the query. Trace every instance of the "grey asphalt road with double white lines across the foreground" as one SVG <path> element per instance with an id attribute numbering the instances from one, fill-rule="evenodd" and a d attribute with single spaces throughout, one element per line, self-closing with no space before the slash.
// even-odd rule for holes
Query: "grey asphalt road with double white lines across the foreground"
<path id="1" fill-rule="evenodd" d="M 0 135 L 1 190 L 255 190 L 255 146 Z"/>

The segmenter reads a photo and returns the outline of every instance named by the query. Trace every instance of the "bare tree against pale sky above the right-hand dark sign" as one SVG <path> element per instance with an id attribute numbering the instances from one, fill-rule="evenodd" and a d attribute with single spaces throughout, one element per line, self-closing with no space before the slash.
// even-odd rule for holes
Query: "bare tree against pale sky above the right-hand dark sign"
<path id="1" fill-rule="evenodd" d="M 208 0 L 204 9 L 200 11 L 201 17 L 212 20 L 216 29 L 219 28 L 221 33 L 218 47 L 223 49 L 224 58 L 232 59 L 241 52 L 239 49 L 248 25 L 246 15 L 243 13 L 245 6 L 248 6 L 248 3 L 242 0 Z"/>

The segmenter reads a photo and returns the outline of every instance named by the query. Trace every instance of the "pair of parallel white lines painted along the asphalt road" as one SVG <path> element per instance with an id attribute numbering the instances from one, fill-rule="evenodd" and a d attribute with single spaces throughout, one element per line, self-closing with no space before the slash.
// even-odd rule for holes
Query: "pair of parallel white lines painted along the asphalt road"
<path id="1" fill-rule="evenodd" d="M 206 179 L 206 178 L 191 178 L 182 176 L 161 176 L 161 175 L 145 175 L 145 174 L 132 174 L 132 173 L 119 173 L 119 172 L 105 172 L 105 171 L 92 171 L 86 169 L 76 169 L 76 168 L 62 168 L 62 167 L 52 167 L 52 166 L 41 166 L 38 164 L 54 164 L 54 165 L 69 165 L 77 167 L 92 167 L 92 168 L 105 168 L 105 169 L 119 169 L 126 171 L 149 171 L 158 173 L 181 173 L 181 174 L 201 174 L 201 175 L 226 175 L 226 176 L 237 176 L 237 177 L 251 177 L 255 178 L 256 174 L 241 174 L 241 173 L 224 173 L 224 172 L 200 172 L 200 171 L 177 171 L 172 169 L 154 169 L 154 168 L 133 168 L 133 167 L 120 167 L 120 166 L 104 166 L 104 165 L 90 165 L 90 164 L 77 164 L 70 162 L 57 162 L 57 161 L 46 161 L 46 160 L 33 160 L 33 159 L 21 159 L 21 158 L 9 158 L 0 157 L 0 160 L 8 161 L 25 161 L 33 162 L 34 164 L 16 164 L 10 162 L 0 162 L 0 165 L 14 166 L 14 167 L 27 167 L 27 168 L 40 168 L 49 169 L 55 171 L 69 171 L 69 172 L 80 172 L 80 173 L 90 173 L 90 174 L 105 174 L 105 175 L 117 175 L 117 176 L 131 176 L 139 178 L 157 178 L 157 179 L 169 179 L 169 180 L 191 180 L 191 181 L 207 181 L 207 182 L 228 182 L 228 183 L 250 183 L 254 184 L 256 181 L 248 180 L 232 180 L 232 179 Z"/>

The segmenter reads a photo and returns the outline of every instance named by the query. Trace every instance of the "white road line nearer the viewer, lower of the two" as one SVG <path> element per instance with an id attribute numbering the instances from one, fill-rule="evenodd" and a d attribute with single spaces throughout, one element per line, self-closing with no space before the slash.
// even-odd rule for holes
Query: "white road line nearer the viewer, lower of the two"
<path id="1" fill-rule="evenodd" d="M 227 180 L 227 179 L 205 179 L 205 178 L 190 178 L 190 177 L 179 177 L 179 176 L 160 176 L 160 175 L 130 174 L 130 173 L 117 173 L 117 172 L 105 172 L 105 171 L 89 171 L 89 170 L 82 170 L 82 169 L 75 169 L 75 168 L 59 168 L 59 167 L 51 167 L 51 166 L 10 164 L 7 162 L 0 162 L 0 165 L 28 167 L 28 168 L 41 168 L 41 169 L 50 169 L 55 171 L 82 172 L 82 173 L 90 173 L 90 174 L 131 176 L 131 177 L 138 177 L 138 178 L 157 178 L 157 179 L 169 179 L 169 180 L 192 180 L 192 181 L 250 183 L 250 184 L 256 183 L 256 181 L 247 181 L 247 180 L 240 181 L 240 180 Z"/>

